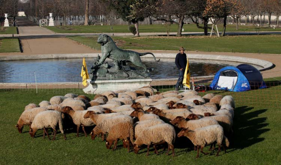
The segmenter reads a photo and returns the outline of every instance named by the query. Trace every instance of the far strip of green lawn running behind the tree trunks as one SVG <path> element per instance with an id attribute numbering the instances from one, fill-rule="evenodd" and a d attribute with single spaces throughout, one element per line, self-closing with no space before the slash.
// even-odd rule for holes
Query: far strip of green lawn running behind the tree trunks
<path id="1" fill-rule="evenodd" d="M 203 26 L 203 25 L 200 25 Z M 170 32 L 177 32 L 177 25 L 170 26 Z M 115 25 L 111 30 L 109 25 L 91 25 L 91 26 L 46 26 L 46 28 L 53 30 L 56 33 L 130 33 L 128 25 Z M 183 26 L 184 32 L 204 32 L 203 29 L 198 29 L 195 24 L 185 24 Z M 218 29 L 221 32 L 223 25 L 219 24 Z M 242 31 L 257 31 L 255 26 L 239 26 L 239 30 L 236 30 L 235 25 L 227 25 L 226 31 L 242 32 Z M 166 32 L 165 25 L 139 25 L 140 33 L 161 33 Z M 211 31 L 211 30 L 209 30 Z M 281 28 L 273 29 L 268 26 L 260 28 L 260 31 L 281 31 Z"/>

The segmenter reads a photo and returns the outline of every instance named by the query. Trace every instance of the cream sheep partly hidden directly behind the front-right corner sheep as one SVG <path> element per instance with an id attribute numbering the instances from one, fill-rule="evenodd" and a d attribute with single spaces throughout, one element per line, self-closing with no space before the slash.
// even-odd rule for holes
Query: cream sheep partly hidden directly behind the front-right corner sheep
<path id="1" fill-rule="evenodd" d="M 171 124 L 179 127 L 179 128 L 188 128 L 190 130 L 195 130 L 197 128 L 202 128 L 205 126 L 211 126 L 211 125 L 218 125 L 219 123 L 215 121 L 214 119 L 208 119 L 208 118 L 202 118 L 199 119 L 195 118 L 196 120 L 190 120 L 189 117 L 186 119 L 184 117 L 178 116 L 173 121 L 171 121 Z"/>

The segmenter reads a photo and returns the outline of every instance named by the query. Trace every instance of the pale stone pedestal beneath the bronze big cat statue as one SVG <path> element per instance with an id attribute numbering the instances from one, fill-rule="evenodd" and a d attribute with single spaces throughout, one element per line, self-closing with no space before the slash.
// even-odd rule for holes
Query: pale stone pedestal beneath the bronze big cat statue
<path id="1" fill-rule="evenodd" d="M 99 94 L 107 90 L 138 89 L 150 86 L 152 79 L 126 79 L 126 80 L 87 80 L 90 84 L 83 89 L 86 94 Z"/>

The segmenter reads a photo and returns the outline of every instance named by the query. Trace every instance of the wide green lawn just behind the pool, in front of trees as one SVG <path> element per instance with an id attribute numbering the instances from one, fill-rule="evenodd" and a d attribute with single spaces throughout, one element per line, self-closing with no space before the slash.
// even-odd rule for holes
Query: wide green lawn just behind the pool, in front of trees
<path id="1" fill-rule="evenodd" d="M 98 36 L 68 36 L 96 50 L 101 49 L 97 43 Z M 281 35 L 254 36 L 185 36 L 185 37 L 112 37 L 117 46 L 122 49 L 143 50 L 178 50 L 180 46 L 191 51 L 204 52 L 236 52 L 236 53 L 270 53 L 281 54 Z"/>

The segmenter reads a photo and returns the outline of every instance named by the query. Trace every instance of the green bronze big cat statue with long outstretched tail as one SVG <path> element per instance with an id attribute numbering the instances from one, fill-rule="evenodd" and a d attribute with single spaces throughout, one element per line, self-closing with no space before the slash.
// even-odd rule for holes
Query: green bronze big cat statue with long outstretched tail
<path id="1" fill-rule="evenodd" d="M 101 34 L 98 37 L 97 42 L 101 44 L 101 59 L 97 64 L 98 66 L 103 64 L 106 58 L 110 58 L 114 61 L 119 62 L 132 62 L 134 65 L 144 68 L 145 71 L 147 71 L 146 66 L 141 62 L 141 56 L 151 54 L 155 61 L 160 61 L 160 59 L 155 59 L 153 53 L 138 53 L 131 50 L 122 50 L 120 48 L 117 48 L 115 42 L 111 39 L 110 36 L 106 34 Z"/>

